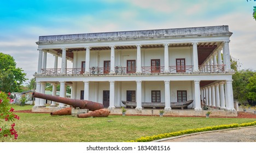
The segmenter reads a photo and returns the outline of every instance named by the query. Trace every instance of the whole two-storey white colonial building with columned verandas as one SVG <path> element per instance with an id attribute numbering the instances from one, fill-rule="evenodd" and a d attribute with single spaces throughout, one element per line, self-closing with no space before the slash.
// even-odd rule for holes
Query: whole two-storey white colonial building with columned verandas
<path id="1" fill-rule="evenodd" d="M 60 84 L 65 97 L 69 85 L 72 98 L 111 110 L 124 106 L 121 101 L 137 102 L 137 110 L 142 102 L 161 102 L 171 110 L 170 102 L 190 99 L 189 108 L 202 110 L 205 97 L 208 107 L 232 111 L 231 35 L 228 26 L 211 26 L 40 36 L 36 91 L 44 93 L 51 83 L 55 95 Z M 51 67 L 47 54 L 55 56 Z M 43 106 L 37 98 L 35 107 Z"/>

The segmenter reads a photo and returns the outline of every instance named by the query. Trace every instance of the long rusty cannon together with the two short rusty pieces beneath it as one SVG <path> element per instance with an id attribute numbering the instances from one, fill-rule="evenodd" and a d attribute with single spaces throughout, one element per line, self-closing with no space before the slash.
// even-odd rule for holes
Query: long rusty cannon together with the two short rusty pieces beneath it
<path id="1" fill-rule="evenodd" d="M 46 99 L 49 101 L 59 102 L 67 105 L 71 105 L 73 108 L 80 108 L 80 109 L 89 109 L 92 112 L 85 113 L 80 117 L 107 117 L 110 113 L 108 109 L 104 109 L 103 104 L 92 102 L 92 101 L 86 101 L 81 99 L 71 99 L 71 98 L 64 98 L 64 97 L 58 97 L 58 96 L 51 96 L 46 95 L 43 93 L 33 92 L 32 96 L 35 98 L 41 98 Z M 72 114 L 72 108 L 63 108 L 61 110 L 57 110 L 53 113 L 50 113 L 50 115 L 71 115 Z M 79 117 L 79 116 L 78 116 Z"/>

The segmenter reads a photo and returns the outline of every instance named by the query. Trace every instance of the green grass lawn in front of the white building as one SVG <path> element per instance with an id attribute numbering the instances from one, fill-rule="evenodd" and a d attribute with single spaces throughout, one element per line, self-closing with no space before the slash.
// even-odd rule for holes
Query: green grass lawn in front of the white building
<path id="1" fill-rule="evenodd" d="M 31 109 L 32 106 L 14 107 Z M 121 116 L 77 118 L 50 114 L 15 113 L 19 137 L 15 142 L 124 142 L 155 134 L 230 123 L 253 122 L 256 119 Z"/>

